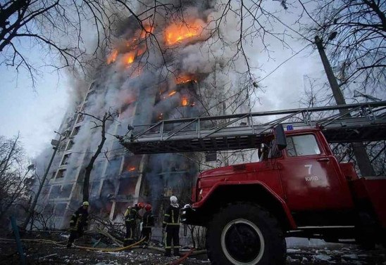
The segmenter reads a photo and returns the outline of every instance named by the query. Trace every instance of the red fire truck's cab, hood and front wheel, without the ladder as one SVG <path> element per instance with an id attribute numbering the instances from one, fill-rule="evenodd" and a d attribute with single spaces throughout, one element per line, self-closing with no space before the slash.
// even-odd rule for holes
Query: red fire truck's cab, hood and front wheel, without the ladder
<path id="1" fill-rule="evenodd" d="M 283 264 L 291 236 L 385 244 L 386 178 L 359 178 L 320 129 L 279 125 L 259 157 L 200 174 L 182 209 L 185 224 L 207 228 L 212 264 Z"/>

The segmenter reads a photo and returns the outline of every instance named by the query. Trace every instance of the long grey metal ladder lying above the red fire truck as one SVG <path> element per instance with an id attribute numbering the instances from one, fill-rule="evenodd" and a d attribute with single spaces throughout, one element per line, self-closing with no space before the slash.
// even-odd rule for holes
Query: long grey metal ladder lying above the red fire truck
<path id="1" fill-rule="evenodd" d="M 342 112 L 342 113 L 341 113 Z M 323 119 L 317 119 L 321 115 Z M 120 143 L 135 154 L 257 148 L 273 127 L 320 128 L 330 143 L 386 139 L 386 101 L 169 119 L 130 127 Z"/>

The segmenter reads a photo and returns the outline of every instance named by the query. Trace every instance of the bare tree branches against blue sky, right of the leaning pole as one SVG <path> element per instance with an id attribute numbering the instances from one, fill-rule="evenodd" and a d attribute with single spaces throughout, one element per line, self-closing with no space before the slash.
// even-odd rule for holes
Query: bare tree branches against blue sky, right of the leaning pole
<path id="1" fill-rule="evenodd" d="M 351 90 L 366 93 L 384 90 L 385 1 L 308 1 L 311 4 L 316 5 L 314 11 L 305 11 L 314 23 L 312 27 L 306 26 L 306 30 L 309 38 L 316 35 L 323 38 L 332 65 L 338 67 L 335 76 L 342 89 L 350 85 Z"/>

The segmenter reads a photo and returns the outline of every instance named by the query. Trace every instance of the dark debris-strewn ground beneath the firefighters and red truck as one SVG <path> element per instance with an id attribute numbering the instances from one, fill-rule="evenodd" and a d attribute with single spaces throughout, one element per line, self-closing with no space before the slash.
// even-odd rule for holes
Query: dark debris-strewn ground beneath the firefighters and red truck
<path id="1" fill-rule="evenodd" d="M 134 250 L 121 252 L 101 252 L 84 250 L 77 247 L 66 248 L 64 245 L 54 245 L 51 242 L 42 243 L 41 240 L 54 240 L 55 242 L 66 240 L 60 235 L 30 235 L 30 240 L 23 240 L 23 250 L 26 254 L 27 264 L 211 264 L 206 254 L 193 255 L 185 261 L 175 262 L 180 257 L 163 257 L 163 250 L 159 245 L 143 249 L 137 247 Z M 75 241 L 77 245 L 97 245 L 90 239 Z M 97 247 L 114 247 L 98 243 Z M 183 252 L 182 252 L 183 253 Z M 15 241 L 0 239 L 0 264 L 20 264 L 20 257 L 16 249 Z M 356 245 L 335 244 L 328 247 L 292 247 L 287 249 L 286 264 L 323 265 L 386 265 L 386 250 L 378 247 L 375 250 L 364 251 Z"/>

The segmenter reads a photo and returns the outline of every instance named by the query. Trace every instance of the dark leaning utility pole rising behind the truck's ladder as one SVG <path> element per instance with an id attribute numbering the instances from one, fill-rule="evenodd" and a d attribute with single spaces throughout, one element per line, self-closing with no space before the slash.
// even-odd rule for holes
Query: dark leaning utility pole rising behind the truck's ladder
<path id="1" fill-rule="evenodd" d="M 342 91 L 340 90 L 340 86 L 337 83 L 337 79 L 335 78 L 334 72 L 332 72 L 332 68 L 330 62 L 328 61 L 327 56 L 325 55 L 325 51 L 323 48 L 323 39 L 320 39 L 318 36 L 315 37 L 315 44 L 318 47 L 318 51 L 320 54 L 320 58 L 322 60 L 325 74 L 327 75 L 328 82 L 330 83 L 332 89 L 332 95 L 335 98 L 337 105 L 346 105 L 346 101 L 344 100 L 344 96 Z M 340 110 L 340 113 L 344 113 L 344 110 Z M 351 117 L 348 113 L 346 116 Z M 375 172 L 373 166 L 371 165 L 370 159 L 368 158 L 366 148 L 362 142 L 351 143 L 352 149 L 354 151 L 354 155 L 356 157 L 356 162 L 358 162 L 359 171 L 362 176 L 374 176 Z"/>

